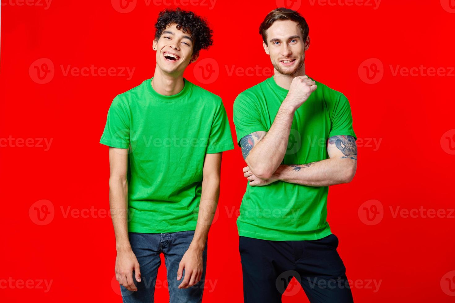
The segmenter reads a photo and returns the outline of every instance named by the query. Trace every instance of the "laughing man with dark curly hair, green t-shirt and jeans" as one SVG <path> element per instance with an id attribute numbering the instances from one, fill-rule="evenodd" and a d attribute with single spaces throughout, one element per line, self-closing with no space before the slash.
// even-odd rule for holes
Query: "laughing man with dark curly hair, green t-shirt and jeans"
<path id="1" fill-rule="evenodd" d="M 114 98 L 100 140 L 109 146 L 116 279 L 123 302 L 153 302 L 163 253 L 170 302 L 196 303 L 233 139 L 221 98 L 183 78 L 212 45 L 206 21 L 164 10 L 155 28 L 155 74 Z"/>

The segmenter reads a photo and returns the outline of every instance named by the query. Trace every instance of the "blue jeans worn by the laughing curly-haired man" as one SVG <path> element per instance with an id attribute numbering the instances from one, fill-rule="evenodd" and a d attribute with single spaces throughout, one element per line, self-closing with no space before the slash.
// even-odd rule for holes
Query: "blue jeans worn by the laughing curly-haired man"
<path id="1" fill-rule="evenodd" d="M 133 280 L 137 291 L 132 292 L 120 285 L 124 303 L 151 303 L 154 302 L 155 284 L 158 268 L 161 265 L 160 253 L 164 253 L 167 268 L 167 285 L 169 288 L 170 303 L 200 303 L 204 288 L 205 269 L 207 264 L 207 243 L 202 253 L 203 271 L 201 281 L 189 288 L 178 288 L 185 278 L 177 281 L 177 270 L 183 254 L 186 253 L 194 236 L 194 230 L 176 233 L 129 233 L 131 248 L 136 255 L 141 268 L 141 282 Z M 159 287 L 167 288 L 166 281 L 159 283 Z"/>

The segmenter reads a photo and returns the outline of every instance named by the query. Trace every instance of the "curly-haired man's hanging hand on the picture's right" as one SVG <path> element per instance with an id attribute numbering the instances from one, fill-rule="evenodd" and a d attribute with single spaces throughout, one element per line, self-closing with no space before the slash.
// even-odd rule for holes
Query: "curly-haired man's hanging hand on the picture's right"
<path id="1" fill-rule="evenodd" d="M 183 269 L 185 269 L 185 278 L 178 288 L 189 288 L 201 280 L 203 270 L 201 249 L 193 248 L 190 245 L 183 255 L 177 271 L 177 280 L 179 281 L 182 278 Z"/>

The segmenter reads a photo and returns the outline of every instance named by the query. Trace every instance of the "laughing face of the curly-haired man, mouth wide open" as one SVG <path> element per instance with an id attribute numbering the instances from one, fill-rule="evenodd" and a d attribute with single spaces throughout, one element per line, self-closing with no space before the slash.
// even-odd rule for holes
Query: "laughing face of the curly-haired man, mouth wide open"
<path id="1" fill-rule="evenodd" d="M 188 64 L 198 57 L 193 55 L 193 43 L 190 33 L 178 30 L 175 23 L 168 25 L 159 39 L 153 41 L 158 67 L 164 73 L 182 75 Z"/>

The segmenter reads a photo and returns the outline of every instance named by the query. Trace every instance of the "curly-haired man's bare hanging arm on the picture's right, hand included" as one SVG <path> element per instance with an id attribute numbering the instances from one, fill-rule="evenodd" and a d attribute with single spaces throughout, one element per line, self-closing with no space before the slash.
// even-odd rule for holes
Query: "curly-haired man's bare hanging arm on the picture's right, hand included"
<path id="1" fill-rule="evenodd" d="M 202 193 L 199 203 L 196 230 L 187 252 L 183 255 L 177 272 L 177 280 L 182 278 L 185 268 L 185 278 L 178 288 L 188 288 L 196 284 L 202 277 L 202 252 L 205 249 L 207 235 L 217 209 L 220 194 L 222 153 L 206 154 L 204 159 Z"/>

